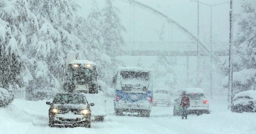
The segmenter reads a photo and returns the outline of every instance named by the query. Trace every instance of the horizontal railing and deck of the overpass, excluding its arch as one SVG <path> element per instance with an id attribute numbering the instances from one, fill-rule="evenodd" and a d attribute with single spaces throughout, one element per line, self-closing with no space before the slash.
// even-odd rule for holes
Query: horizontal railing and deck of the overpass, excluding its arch
<path id="1" fill-rule="evenodd" d="M 210 50 L 210 42 L 204 42 Z M 130 55 L 196 55 L 196 42 L 126 42 L 122 51 Z M 123 52 L 123 53 L 124 53 Z M 151 52 L 148 53 L 147 52 Z M 212 52 L 215 55 L 228 54 L 228 42 L 212 42 Z M 199 46 L 200 55 L 207 55 Z"/>

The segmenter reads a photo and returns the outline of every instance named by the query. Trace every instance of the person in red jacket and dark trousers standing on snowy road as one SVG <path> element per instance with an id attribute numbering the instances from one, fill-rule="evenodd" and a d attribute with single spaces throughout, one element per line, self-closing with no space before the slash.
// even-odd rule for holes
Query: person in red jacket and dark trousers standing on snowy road
<path id="1" fill-rule="evenodd" d="M 185 91 L 182 91 L 182 98 L 180 102 L 180 106 L 182 107 L 182 117 L 181 119 L 188 119 L 188 107 L 190 106 L 189 97 L 186 95 Z"/>

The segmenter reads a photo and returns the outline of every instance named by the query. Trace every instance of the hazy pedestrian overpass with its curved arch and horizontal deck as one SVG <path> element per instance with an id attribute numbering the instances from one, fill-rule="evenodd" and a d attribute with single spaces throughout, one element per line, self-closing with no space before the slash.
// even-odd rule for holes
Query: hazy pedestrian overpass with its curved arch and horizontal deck
<path id="1" fill-rule="evenodd" d="M 198 36 L 193 35 L 186 28 L 181 26 L 178 22 L 166 16 L 162 12 L 147 6 L 136 0 L 119 0 L 127 4 L 139 7 L 152 14 L 163 18 L 169 24 L 172 24 L 191 39 L 188 42 L 140 42 L 129 41 L 125 42 L 122 50 L 115 53 L 115 55 L 169 55 L 169 56 L 209 56 L 218 67 L 223 65 L 219 56 L 228 56 L 229 43 L 228 42 L 202 42 Z M 134 13 L 135 14 L 135 13 Z M 134 22 L 133 22 L 134 23 Z"/>

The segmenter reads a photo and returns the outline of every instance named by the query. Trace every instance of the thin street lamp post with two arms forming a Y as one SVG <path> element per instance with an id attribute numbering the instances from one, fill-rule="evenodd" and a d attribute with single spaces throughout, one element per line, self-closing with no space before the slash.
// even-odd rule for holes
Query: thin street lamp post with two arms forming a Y
<path id="1" fill-rule="evenodd" d="M 209 4 L 205 4 L 202 2 L 199 2 L 200 4 L 204 4 L 206 6 L 210 6 L 211 8 L 211 19 L 210 19 L 210 91 L 211 91 L 211 97 L 212 97 L 212 7 L 213 6 L 218 6 L 221 4 L 226 4 L 229 2 L 224 2 L 224 3 L 220 3 L 220 4 L 214 4 L 214 5 L 209 5 Z"/>

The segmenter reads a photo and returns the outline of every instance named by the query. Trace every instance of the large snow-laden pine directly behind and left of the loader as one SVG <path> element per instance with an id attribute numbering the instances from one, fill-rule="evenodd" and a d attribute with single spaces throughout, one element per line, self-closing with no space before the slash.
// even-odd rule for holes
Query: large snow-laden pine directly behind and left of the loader
<path id="1" fill-rule="evenodd" d="M 31 0 L 29 7 L 38 19 L 39 30 L 32 43 L 30 71 L 34 79 L 28 91 L 60 89 L 65 53 L 84 51 L 81 40 L 74 35 L 77 4 L 74 0 Z"/>

